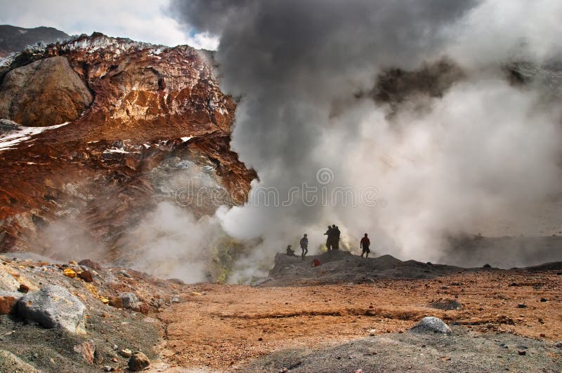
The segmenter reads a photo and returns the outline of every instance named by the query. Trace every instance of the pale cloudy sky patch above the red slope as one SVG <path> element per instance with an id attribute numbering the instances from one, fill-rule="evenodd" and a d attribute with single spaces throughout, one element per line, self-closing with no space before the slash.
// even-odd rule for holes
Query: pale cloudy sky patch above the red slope
<path id="1" fill-rule="evenodd" d="M 166 11 L 167 0 L 0 0 L 0 24 L 48 26 L 67 34 L 103 32 L 136 41 L 216 49 L 218 38 L 186 29 Z"/>

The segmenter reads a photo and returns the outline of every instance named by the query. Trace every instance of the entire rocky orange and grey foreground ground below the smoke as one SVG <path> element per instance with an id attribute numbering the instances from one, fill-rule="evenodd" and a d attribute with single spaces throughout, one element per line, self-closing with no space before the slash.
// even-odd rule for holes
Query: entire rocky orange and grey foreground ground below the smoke
<path id="1" fill-rule="evenodd" d="M 336 253 L 315 257 L 322 264 L 313 267 L 312 258 L 278 257 L 270 280 L 247 286 L 185 285 L 23 253 L 0 259 L 0 311 L 9 296 L 23 297 L 0 315 L 2 372 L 119 371 L 137 351 L 150 359 L 152 372 L 562 369 L 559 264 L 464 270 Z M 281 286 L 278 279 L 288 280 L 284 271 L 293 270 L 286 259 L 302 275 Z M 358 277 L 337 283 L 329 263 Z M 426 266 L 436 270 L 424 272 Z M 65 299 L 55 327 L 21 304 L 53 285 L 70 294 L 53 297 Z M 68 323 L 77 302 L 85 308 L 73 329 Z M 31 306 L 41 304 L 48 302 Z M 444 320 L 452 332 L 410 330 L 426 316 Z"/>

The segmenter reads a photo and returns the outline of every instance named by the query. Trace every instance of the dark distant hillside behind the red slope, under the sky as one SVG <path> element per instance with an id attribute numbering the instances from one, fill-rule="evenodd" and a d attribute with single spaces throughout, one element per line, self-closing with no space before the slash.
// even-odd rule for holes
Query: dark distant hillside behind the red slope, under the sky
<path id="1" fill-rule="evenodd" d="M 35 27 L 25 29 L 11 25 L 0 25 L 0 57 L 23 50 L 30 44 L 44 41 L 54 43 L 57 39 L 66 39 L 68 35 L 53 27 Z"/>

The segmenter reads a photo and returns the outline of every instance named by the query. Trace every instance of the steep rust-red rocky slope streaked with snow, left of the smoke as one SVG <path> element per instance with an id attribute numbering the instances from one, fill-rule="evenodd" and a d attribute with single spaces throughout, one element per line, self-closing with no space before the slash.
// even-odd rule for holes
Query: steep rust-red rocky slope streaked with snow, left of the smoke
<path id="1" fill-rule="evenodd" d="M 52 60 L 67 63 L 93 101 L 72 121 L 64 116 L 69 105 L 57 105 L 56 85 L 39 87 L 37 80 L 26 87 L 30 102 L 40 97 L 49 102 L 30 110 L 38 119 L 28 125 L 51 124 L 57 115 L 70 123 L 0 149 L 0 250 L 65 257 L 63 251 L 75 247 L 117 259 L 123 250 L 119 238 L 159 202 L 201 217 L 219 205 L 245 201 L 256 174 L 230 151 L 235 102 L 218 88 L 211 56 L 189 46 L 81 36 L 27 51 L 25 62 L 9 61 L 0 97 L 20 65 L 49 67 Z M 42 76 L 55 72 L 51 66 Z M 22 104 L 15 106 L 22 110 Z M 50 121 L 44 120 L 46 113 Z M 2 136 L 10 134 L 0 134 L 0 142 Z M 220 191 L 221 198 L 186 199 L 200 192 L 200 187 L 190 190 L 192 185 Z M 55 244 L 45 232 L 55 236 Z"/>

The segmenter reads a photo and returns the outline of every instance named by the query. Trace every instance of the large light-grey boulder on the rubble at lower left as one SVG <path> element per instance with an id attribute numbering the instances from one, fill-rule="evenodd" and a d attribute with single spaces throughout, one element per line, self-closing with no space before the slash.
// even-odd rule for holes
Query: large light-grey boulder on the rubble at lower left
<path id="1" fill-rule="evenodd" d="M 86 306 L 64 287 L 48 285 L 21 297 L 18 313 L 46 328 L 62 327 L 77 333 L 83 332 Z"/>

